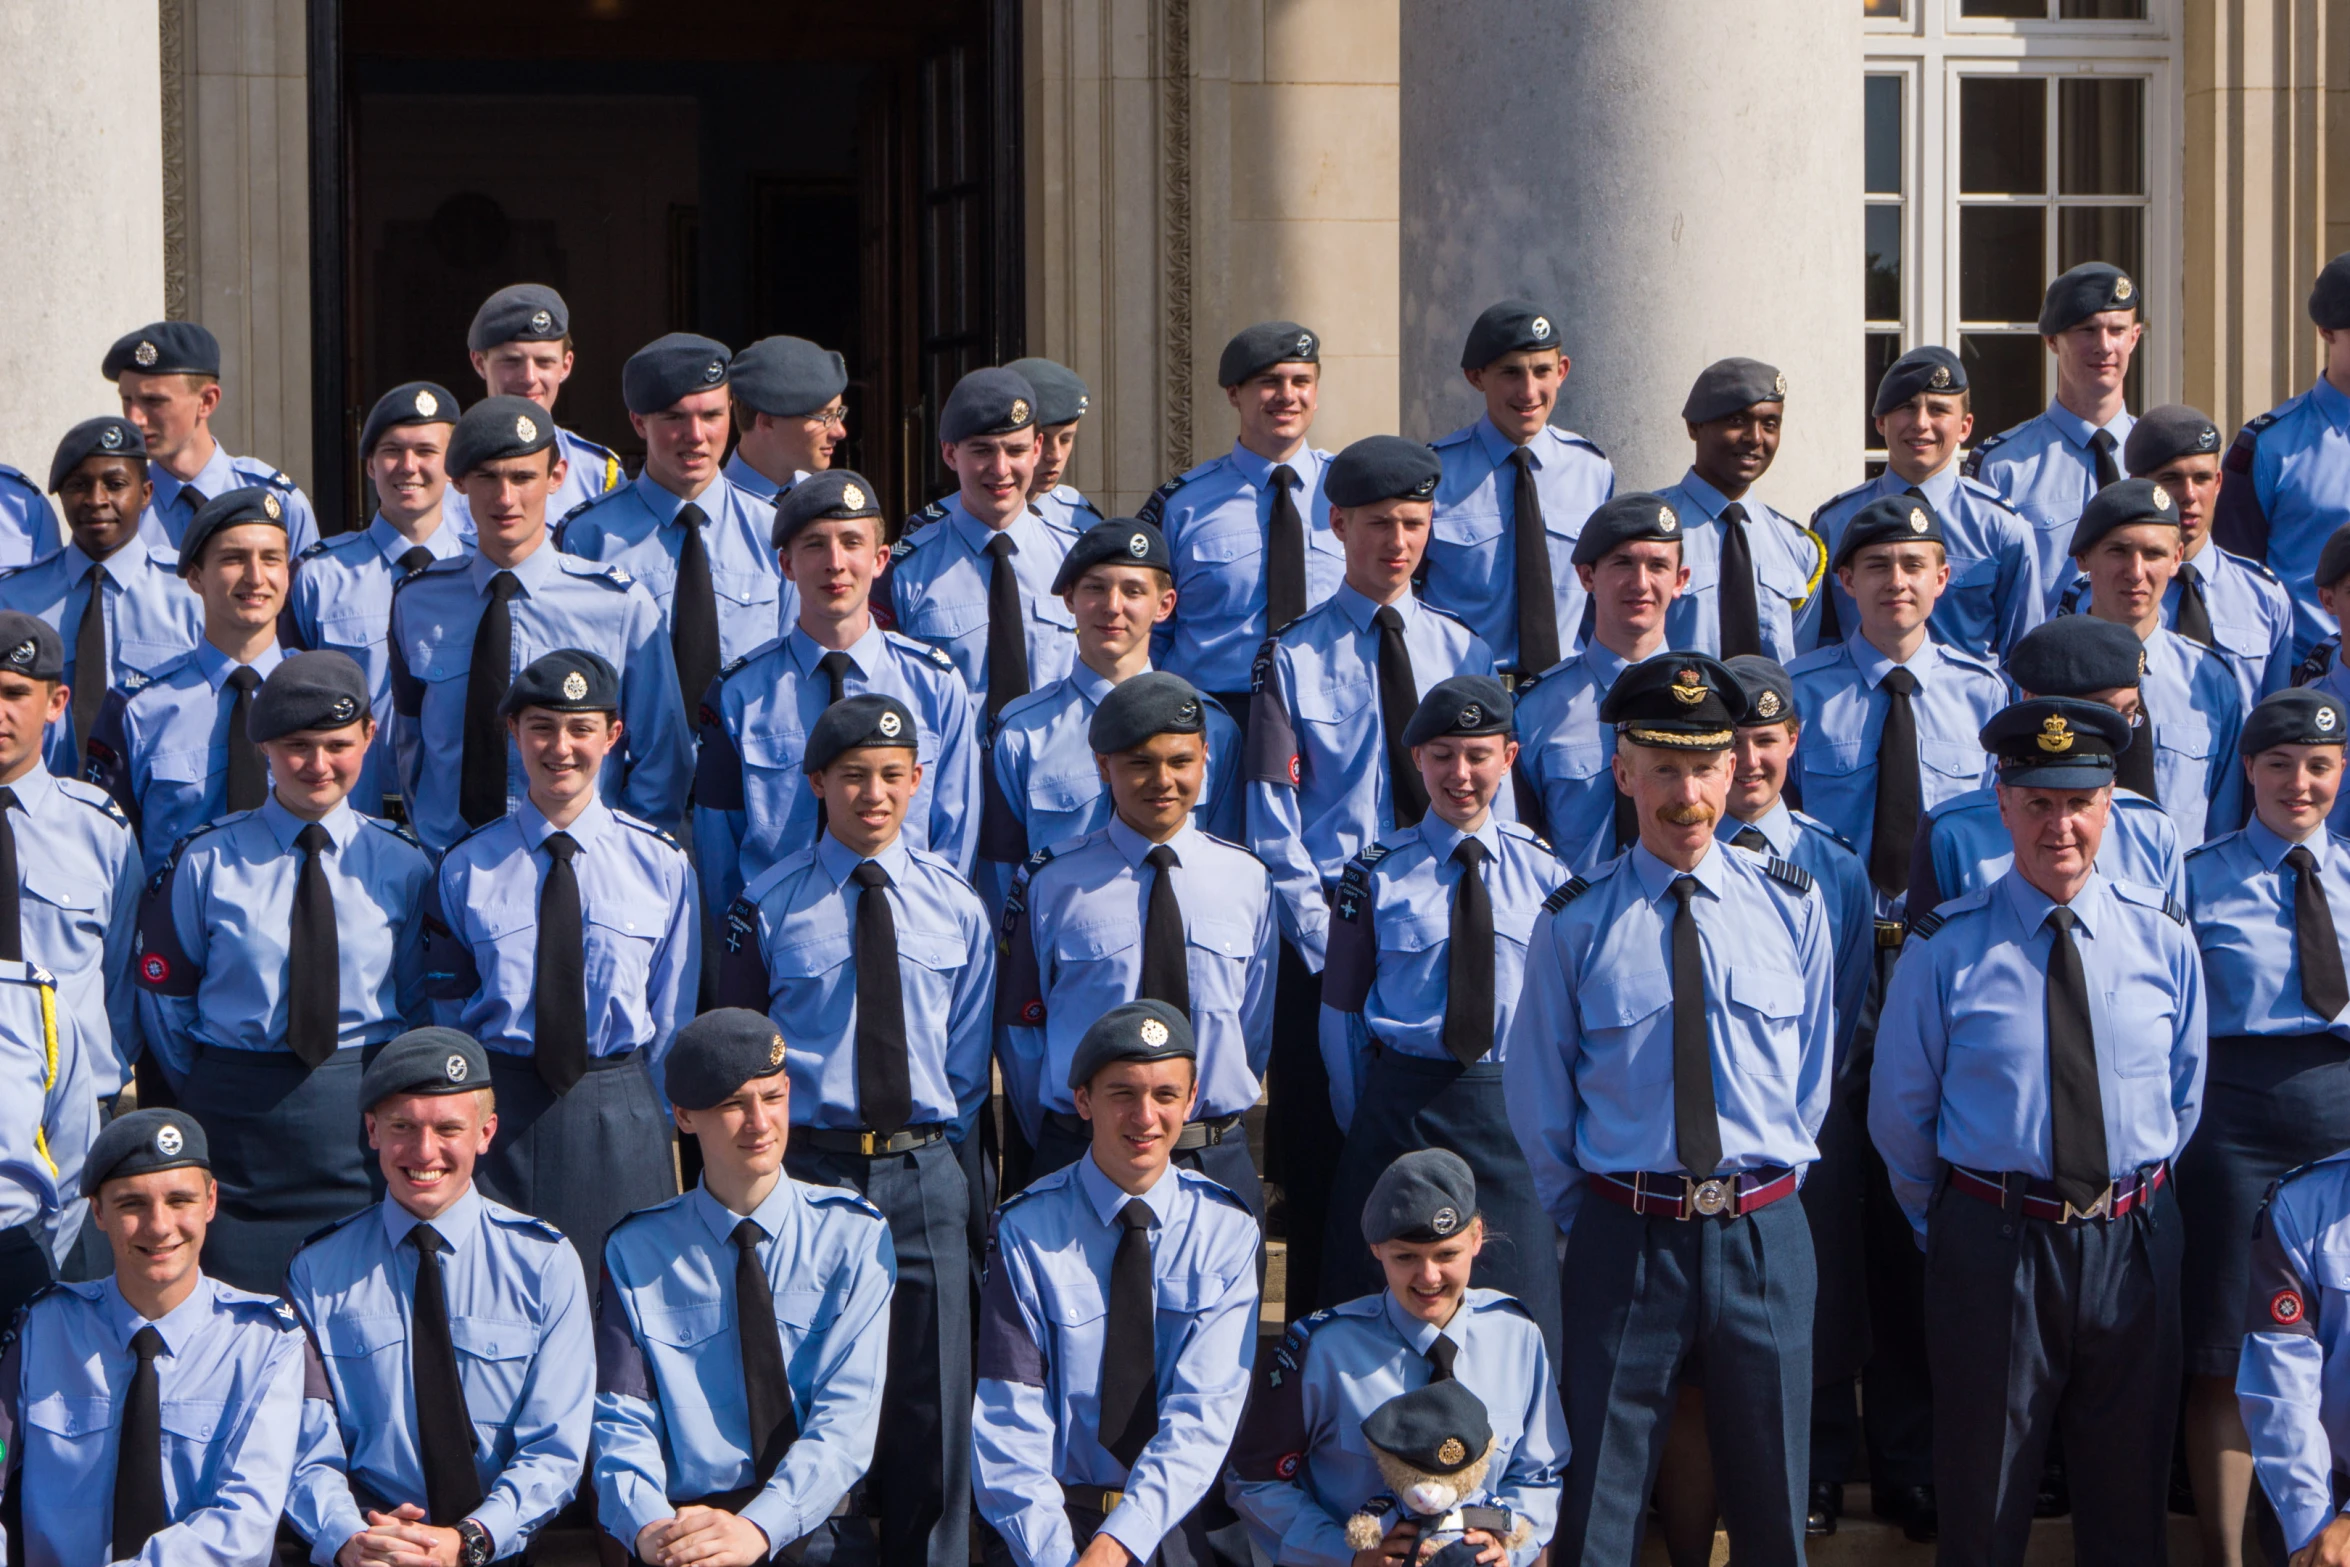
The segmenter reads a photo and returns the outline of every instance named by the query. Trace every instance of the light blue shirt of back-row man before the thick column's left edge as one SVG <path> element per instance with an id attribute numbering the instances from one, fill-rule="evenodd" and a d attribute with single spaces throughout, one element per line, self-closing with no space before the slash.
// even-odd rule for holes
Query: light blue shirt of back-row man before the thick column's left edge
<path id="1" fill-rule="evenodd" d="M 1518 665 L 1518 449 L 1490 416 L 1431 442 L 1445 472 L 1436 482 L 1436 519 L 1429 526 L 1429 559 L 1422 594 L 1436 608 L 1459 616 L 1485 639 L 1502 667 Z M 1544 425 L 1525 444 L 1535 493 L 1542 498 L 1542 533 L 1551 552 L 1551 597 L 1558 613 L 1558 646 L 1572 648 L 1584 623 L 1584 583 L 1574 576 L 1574 540 L 1584 522 L 1614 493 L 1614 468 L 1584 437 Z"/>

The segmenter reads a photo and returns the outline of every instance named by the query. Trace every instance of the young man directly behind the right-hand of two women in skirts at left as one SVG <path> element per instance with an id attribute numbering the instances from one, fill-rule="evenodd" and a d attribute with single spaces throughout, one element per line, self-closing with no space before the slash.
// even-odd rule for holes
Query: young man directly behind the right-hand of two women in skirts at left
<path id="1" fill-rule="evenodd" d="M 402 578 L 392 594 L 392 754 L 409 825 L 432 853 L 524 796 L 501 705 L 524 665 L 557 648 L 585 648 L 620 672 L 625 738 L 604 789 L 660 827 L 684 818 L 693 733 L 660 606 L 627 569 L 548 538 L 564 479 L 555 435 L 545 409 L 522 397 L 465 409 L 449 477 L 470 496 L 477 547 Z"/>

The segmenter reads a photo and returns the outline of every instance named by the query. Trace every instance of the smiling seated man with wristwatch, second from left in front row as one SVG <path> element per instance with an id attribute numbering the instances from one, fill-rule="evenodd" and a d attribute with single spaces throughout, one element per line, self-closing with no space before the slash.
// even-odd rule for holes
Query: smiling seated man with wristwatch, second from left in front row
<path id="1" fill-rule="evenodd" d="M 472 1036 L 402 1034 L 367 1064 L 360 1102 L 385 1198 L 287 1269 L 324 1372 L 306 1388 L 287 1520 L 317 1567 L 519 1558 L 588 1464 L 578 1252 L 472 1186 L 498 1135 Z"/>

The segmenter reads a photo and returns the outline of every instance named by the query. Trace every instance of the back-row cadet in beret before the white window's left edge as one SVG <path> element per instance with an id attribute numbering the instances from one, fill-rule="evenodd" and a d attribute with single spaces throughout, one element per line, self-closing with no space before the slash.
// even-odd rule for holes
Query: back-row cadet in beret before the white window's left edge
<path id="1" fill-rule="evenodd" d="M 1885 472 L 1847 489 L 1812 512 L 1812 531 L 1833 564 L 1845 552 L 1845 526 L 1871 500 L 1925 498 L 1941 519 L 1950 583 L 1934 604 L 1934 637 L 1976 658 L 2005 658 L 2023 632 L 2047 618 L 2033 526 L 1998 491 L 1958 470 L 1958 449 L 1974 430 L 1967 366 L 1948 348 L 1913 348 L 1885 378 L 1871 404 L 1885 437 Z M 1835 646 L 1856 623 L 1852 590 L 1831 583 L 1812 594 L 1798 641 Z"/>

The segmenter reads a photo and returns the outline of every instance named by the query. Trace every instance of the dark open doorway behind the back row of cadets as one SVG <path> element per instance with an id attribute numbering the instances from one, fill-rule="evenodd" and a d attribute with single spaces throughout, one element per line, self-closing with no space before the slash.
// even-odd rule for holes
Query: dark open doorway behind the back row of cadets
<path id="1" fill-rule="evenodd" d="M 940 399 L 1020 352 L 1018 9 L 310 0 L 320 519 L 367 517 L 383 388 L 482 392 L 465 324 L 519 280 L 571 303 L 557 416 L 623 458 L 642 343 L 787 331 L 848 357 L 893 515 L 945 489 Z"/>

